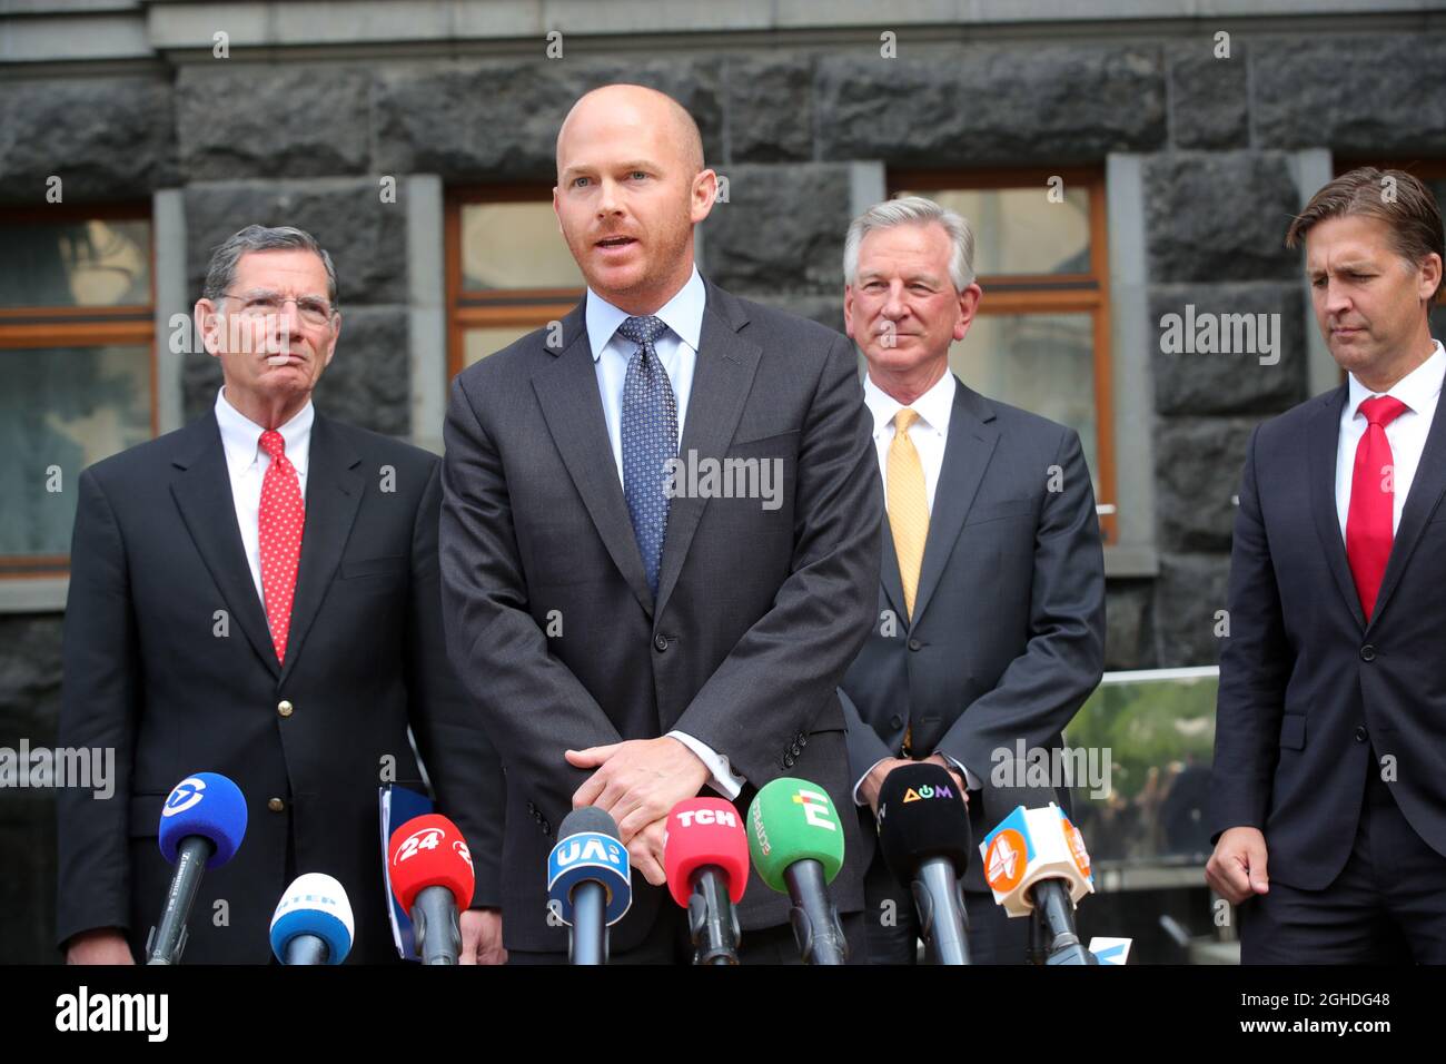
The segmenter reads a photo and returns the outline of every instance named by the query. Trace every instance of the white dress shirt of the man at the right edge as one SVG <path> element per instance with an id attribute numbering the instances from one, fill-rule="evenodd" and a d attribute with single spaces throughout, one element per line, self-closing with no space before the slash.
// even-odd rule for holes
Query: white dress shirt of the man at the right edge
<path id="1" fill-rule="evenodd" d="M 1390 391 L 1372 392 L 1351 373 L 1351 392 L 1346 407 L 1340 411 L 1340 434 L 1336 450 L 1336 517 L 1340 520 L 1340 536 L 1346 534 L 1346 517 L 1351 512 L 1351 482 L 1355 478 L 1355 453 L 1365 436 L 1366 420 L 1361 404 L 1377 395 L 1390 395 L 1406 404 L 1406 410 L 1385 427 L 1385 440 L 1391 444 L 1395 498 L 1391 507 L 1391 534 L 1401 527 L 1401 507 L 1416 479 L 1416 468 L 1421 463 L 1426 436 L 1432 430 L 1436 402 L 1442 395 L 1442 379 L 1446 378 L 1446 350 L 1440 340 L 1430 358 L 1397 381 Z"/>

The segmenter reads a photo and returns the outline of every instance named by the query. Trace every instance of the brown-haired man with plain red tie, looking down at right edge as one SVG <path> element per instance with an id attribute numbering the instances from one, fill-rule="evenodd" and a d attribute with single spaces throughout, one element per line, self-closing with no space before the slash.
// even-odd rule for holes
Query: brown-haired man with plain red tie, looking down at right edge
<path id="1" fill-rule="evenodd" d="M 1348 379 L 1255 430 L 1220 653 L 1209 884 L 1245 963 L 1446 963 L 1442 216 L 1400 171 L 1310 200 Z"/>

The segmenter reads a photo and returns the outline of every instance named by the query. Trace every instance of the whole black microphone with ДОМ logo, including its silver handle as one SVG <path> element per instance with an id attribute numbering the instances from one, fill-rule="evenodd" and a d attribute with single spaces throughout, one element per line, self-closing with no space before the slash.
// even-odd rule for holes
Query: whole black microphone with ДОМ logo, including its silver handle
<path id="1" fill-rule="evenodd" d="M 905 764 L 879 788 L 879 850 L 894 877 L 912 886 L 924 947 L 936 964 L 969 964 L 960 880 L 969 869 L 969 809 L 938 764 Z"/>

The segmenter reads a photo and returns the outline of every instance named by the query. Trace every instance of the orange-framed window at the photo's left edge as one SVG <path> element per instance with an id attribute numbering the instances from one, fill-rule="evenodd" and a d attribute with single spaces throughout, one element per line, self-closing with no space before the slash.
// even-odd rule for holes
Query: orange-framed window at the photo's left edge
<path id="1" fill-rule="evenodd" d="M 0 578 L 68 567 L 80 472 L 156 433 L 149 210 L 0 214 Z"/>

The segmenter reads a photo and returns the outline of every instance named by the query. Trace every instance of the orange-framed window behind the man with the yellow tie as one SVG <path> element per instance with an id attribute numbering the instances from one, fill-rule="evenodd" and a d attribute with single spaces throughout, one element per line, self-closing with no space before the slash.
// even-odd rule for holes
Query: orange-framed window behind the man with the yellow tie
<path id="1" fill-rule="evenodd" d="M 969 336 L 950 347 L 950 369 L 989 398 L 1079 431 L 1100 531 L 1115 543 L 1103 175 L 910 171 L 892 172 L 889 191 L 969 220 L 985 297 Z"/>

